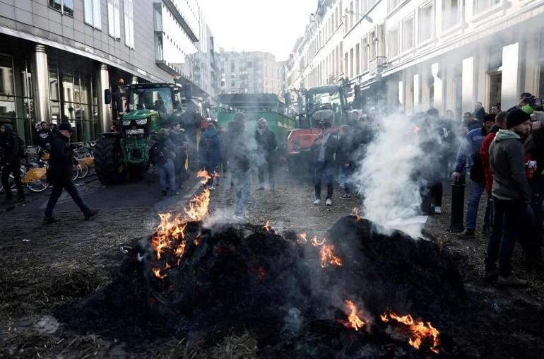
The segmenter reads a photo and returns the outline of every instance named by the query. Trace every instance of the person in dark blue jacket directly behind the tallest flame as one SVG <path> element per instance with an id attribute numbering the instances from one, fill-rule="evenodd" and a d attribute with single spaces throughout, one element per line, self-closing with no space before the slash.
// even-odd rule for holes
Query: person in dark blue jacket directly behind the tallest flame
<path id="1" fill-rule="evenodd" d="M 208 172 L 210 177 L 206 182 L 206 187 L 213 190 L 213 177 L 215 177 L 215 170 L 219 167 L 222 158 L 223 144 L 221 143 L 221 136 L 219 131 L 215 129 L 215 125 L 208 123 L 206 131 L 202 134 L 199 143 L 200 164 L 203 169 Z"/>

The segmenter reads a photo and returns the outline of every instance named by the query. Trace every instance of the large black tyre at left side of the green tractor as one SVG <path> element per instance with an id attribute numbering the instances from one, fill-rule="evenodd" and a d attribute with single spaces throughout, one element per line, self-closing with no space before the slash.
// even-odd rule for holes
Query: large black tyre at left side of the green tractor
<path id="1" fill-rule="evenodd" d="M 102 184 L 116 184 L 126 177 L 119 139 L 100 136 L 95 145 L 95 170 Z"/>

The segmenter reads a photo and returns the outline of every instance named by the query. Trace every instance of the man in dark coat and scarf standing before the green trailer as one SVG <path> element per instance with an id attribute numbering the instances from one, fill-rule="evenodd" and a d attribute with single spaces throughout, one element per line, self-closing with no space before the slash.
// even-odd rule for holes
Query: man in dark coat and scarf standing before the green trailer
<path id="1" fill-rule="evenodd" d="M 270 189 L 274 189 L 274 164 L 273 153 L 278 147 L 276 135 L 268 129 L 266 119 L 261 118 L 255 130 L 255 141 L 257 143 L 257 170 L 259 172 L 259 187 L 264 189 L 264 172 L 268 172 L 268 183 Z"/>

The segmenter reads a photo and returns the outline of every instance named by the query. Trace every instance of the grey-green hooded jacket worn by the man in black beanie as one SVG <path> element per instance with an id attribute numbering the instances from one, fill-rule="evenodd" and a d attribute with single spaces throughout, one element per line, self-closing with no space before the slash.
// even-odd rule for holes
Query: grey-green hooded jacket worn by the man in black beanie
<path id="1" fill-rule="evenodd" d="M 514 131 L 501 129 L 489 149 L 493 175 L 491 193 L 498 199 L 519 199 L 529 203 L 531 189 L 525 173 L 524 144 Z"/>

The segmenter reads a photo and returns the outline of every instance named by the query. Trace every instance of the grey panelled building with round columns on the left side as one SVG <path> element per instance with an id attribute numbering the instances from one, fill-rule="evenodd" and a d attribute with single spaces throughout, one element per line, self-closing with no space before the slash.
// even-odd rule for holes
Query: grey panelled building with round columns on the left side
<path id="1" fill-rule="evenodd" d="M 0 122 L 32 143 L 36 122 L 68 121 L 87 141 L 112 125 L 117 81 L 193 83 L 196 0 L 0 0 Z"/>

